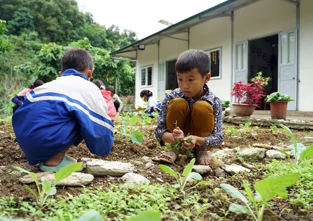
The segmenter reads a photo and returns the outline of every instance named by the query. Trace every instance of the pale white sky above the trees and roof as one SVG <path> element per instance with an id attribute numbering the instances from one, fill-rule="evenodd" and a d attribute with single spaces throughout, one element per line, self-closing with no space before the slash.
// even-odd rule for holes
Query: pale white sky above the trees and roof
<path id="1" fill-rule="evenodd" d="M 91 12 L 93 20 L 106 27 L 130 29 L 138 39 L 167 26 L 158 20 L 177 23 L 225 0 L 76 0 L 80 11 Z M 149 2 L 149 3 L 148 3 Z"/>

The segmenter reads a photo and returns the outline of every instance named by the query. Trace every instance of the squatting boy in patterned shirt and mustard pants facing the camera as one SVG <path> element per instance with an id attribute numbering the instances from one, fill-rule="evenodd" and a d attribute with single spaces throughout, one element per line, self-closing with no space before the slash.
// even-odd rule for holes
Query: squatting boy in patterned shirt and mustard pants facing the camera
<path id="1" fill-rule="evenodd" d="M 157 119 L 156 139 L 176 143 L 182 139 L 183 150 L 195 151 L 198 163 L 209 165 L 207 148 L 221 145 L 222 103 L 206 83 L 210 80 L 210 57 L 199 50 L 185 51 L 175 64 L 179 89 L 167 94 Z M 175 124 L 177 122 L 177 125 Z M 183 138 L 190 133 L 190 136 Z M 186 142 L 192 138 L 191 143 Z M 209 148 L 211 149 L 211 148 Z M 160 156 L 161 161 L 173 163 L 172 151 Z"/>

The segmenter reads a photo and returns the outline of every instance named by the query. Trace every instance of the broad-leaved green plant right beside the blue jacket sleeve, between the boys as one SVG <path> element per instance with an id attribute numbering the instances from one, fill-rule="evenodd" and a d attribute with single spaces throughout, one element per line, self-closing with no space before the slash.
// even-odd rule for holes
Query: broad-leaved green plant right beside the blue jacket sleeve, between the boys
<path id="1" fill-rule="evenodd" d="M 133 143 L 142 144 L 144 134 L 140 133 L 138 131 L 130 131 L 128 129 L 128 125 L 130 125 L 130 126 L 135 125 L 139 121 L 140 116 L 133 115 L 131 118 L 129 117 L 129 115 L 127 115 L 127 116 L 128 117 L 125 117 L 124 120 L 122 120 L 122 125 L 119 125 L 116 127 L 116 128 L 120 128 L 118 133 L 120 133 L 121 135 L 124 135 L 127 138 L 130 138 L 130 140 Z"/>

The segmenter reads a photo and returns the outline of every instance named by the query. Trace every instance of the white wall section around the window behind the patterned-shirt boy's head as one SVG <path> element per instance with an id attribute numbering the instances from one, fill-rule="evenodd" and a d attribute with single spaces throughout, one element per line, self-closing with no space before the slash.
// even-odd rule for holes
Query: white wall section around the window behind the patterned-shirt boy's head
<path id="1" fill-rule="evenodd" d="M 230 100 L 230 35 L 231 20 L 217 18 L 190 29 L 190 49 L 210 50 L 221 47 L 222 79 L 208 82 L 212 92 L 222 100 Z"/>

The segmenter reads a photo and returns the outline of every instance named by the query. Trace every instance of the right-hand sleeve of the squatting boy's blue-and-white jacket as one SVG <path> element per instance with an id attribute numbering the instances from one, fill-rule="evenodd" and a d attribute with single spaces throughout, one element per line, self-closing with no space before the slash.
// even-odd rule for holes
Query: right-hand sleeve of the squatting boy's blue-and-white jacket
<path id="1" fill-rule="evenodd" d="M 108 105 L 101 93 L 94 93 L 90 99 L 96 107 L 97 113 L 83 109 L 75 112 L 80 125 L 80 134 L 85 140 L 89 151 L 97 156 L 108 155 L 113 145 L 114 125 L 108 116 Z M 101 105 L 99 105 L 101 104 Z"/>

